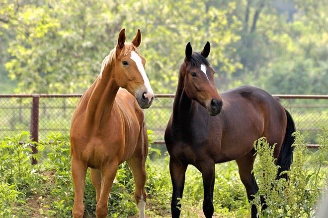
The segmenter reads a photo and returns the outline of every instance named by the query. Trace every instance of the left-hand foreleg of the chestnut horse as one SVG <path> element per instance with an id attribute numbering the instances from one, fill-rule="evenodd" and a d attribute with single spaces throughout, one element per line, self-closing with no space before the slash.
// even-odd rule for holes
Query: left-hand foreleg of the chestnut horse
<path id="1" fill-rule="evenodd" d="M 82 218 L 84 214 L 83 195 L 85 186 L 86 165 L 72 157 L 72 177 L 74 183 L 73 217 Z"/>

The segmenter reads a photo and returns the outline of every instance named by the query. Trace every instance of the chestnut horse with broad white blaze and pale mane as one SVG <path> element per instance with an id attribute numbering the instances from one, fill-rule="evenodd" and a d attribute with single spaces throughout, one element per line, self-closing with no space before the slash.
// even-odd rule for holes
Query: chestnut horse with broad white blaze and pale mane
<path id="1" fill-rule="evenodd" d="M 132 43 L 125 43 L 125 29 L 120 31 L 116 48 L 102 61 L 100 75 L 74 112 L 70 130 L 74 218 L 83 217 L 88 167 L 96 189 L 96 216 L 107 216 L 117 166 L 124 161 L 135 180 L 140 218 L 145 217 L 148 137 L 143 109 L 151 106 L 154 93 L 144 69 L 145 58 L 137 50 L 140 44 L 139 29 Z"/>

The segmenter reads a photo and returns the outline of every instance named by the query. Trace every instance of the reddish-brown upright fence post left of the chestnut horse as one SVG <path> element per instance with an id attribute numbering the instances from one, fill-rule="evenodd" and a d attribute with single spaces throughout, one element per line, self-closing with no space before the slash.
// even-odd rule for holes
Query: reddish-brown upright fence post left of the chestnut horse
<path id="1" fill-rule="evenodd" d="M 32 96 L 32 111 L 31 111 L 31 128 L 30 128 L 31 139 L 34 142 L 39 140 L 39 96 Z M 32 154 L 37 154 L 38 149 L 32 146 Z M 32 164 L 37 164 L 36 159 L 32 159 Z"/>

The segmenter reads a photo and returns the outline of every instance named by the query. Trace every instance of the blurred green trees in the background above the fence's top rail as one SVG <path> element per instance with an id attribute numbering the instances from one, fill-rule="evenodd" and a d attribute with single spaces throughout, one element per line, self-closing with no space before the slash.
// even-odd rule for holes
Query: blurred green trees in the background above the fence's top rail
<path id="1" fill-rule="evenodd" d="M 0 78 L 14 82 L 0 91 L 82 92 L 118 31 L 129 41 L 141 28 L 156 92 L 175 91 L 187 42 L 200 51 L 210 41 L 220 90 L 325 94 L 327 10 L 325 0 L 2 0 Z"/>

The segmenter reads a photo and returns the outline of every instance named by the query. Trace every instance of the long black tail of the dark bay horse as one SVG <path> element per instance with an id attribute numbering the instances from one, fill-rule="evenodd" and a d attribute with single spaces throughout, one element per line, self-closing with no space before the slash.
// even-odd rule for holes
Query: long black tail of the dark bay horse
<path id="1" fill-rule="evenodd" d="M 277 179 L 280 178 L 285 178 L 288 179 L 288 176 L 286 173 L 280 175 L 282 171 L 289 170 L 290 169 L 290 164 L 292 163 L 293 160 L 293 150 L 294 147 L 292 147 L 292 144 L 295 141 L 295 137 L 292 136 L 292 133 L 295 132 L 295 123 L 293 121 L 292 116 L 290 113 L 285 109 L 286 115 L 287 115 L 287 126 L 286 126 L 286 134 L 284 141 L 281 146 L 281 150 L 279 153 L 279 157 L 277 160 L 277 165 L 279 165 L 279 169 L 277 172 Z"/>

